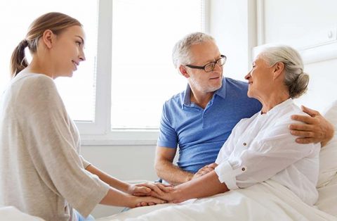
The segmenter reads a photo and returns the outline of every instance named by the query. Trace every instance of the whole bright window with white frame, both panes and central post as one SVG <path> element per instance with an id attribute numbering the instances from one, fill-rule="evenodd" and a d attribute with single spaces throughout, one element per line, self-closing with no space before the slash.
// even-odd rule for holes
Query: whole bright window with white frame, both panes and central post
<path id="1" fill-rule="evenodd" d="M 1 1 L 6 34 L 0 36 L 0 90 L 9 80 L 11 53 L 30 23 L 50 11 L 66 13 L 84 25 L 86 62 L 72 78 L 55 83 L 84 144 L 153 144 L 164 101 L 187 84 L 173 67 L 171 51 L 185 34 L 205 30 L 205 2 Z"/>

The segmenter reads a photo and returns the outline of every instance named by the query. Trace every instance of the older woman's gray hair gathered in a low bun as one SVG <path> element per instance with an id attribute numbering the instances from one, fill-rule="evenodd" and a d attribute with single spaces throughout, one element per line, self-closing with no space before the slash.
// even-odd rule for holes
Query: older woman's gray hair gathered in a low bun
<path id="1" fill-rule="evenodd" d="M 300 54 L 290 46 L 272 46 L 264 49 L 259 57 L 268 65 L 284 63 L 284 84 L 289 89 L 291 98 L 297 98 L 308 89 L 309 75 L 303 72 L 303 61 Z"/>

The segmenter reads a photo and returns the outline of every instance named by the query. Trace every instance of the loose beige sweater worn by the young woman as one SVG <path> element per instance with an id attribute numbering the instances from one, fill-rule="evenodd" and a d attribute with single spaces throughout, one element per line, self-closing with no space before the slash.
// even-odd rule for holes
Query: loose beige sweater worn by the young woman
<path id="1" fill-rule="evenodd" d="M 53 79 L 19 73 L 0 102 L 0 206 L 44 220 L 73 220 L 109 186 L 84 168 L 80 139 Z"/>

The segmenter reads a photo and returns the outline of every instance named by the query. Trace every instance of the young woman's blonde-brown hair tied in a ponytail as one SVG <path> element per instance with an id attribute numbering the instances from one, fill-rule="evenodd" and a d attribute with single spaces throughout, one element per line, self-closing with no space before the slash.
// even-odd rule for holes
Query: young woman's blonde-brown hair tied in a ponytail
<path id="1" fill-rule="evenodd" d="M 82 26 L 78 20 L 63 13 L 51 12 L 41 15 L 29 26 L 27 35 L 18 46 L 15 47 L 11 57 L 11 76 L 15 77 L 21 70 L 27 67 L 25 48 L 28 46 L 30 53 L 37 52 L 37 44 L 45 30 L 51 30 L 54 34 L 60 34 L 67 27 Z"/>

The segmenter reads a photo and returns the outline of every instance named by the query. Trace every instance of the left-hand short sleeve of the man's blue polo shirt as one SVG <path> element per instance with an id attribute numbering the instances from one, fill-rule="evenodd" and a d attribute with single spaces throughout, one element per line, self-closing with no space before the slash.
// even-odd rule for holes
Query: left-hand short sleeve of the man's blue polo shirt
<path id="1" fill-rule="evenodd" d="M 176 149 L 178 146 L 178 134 L 174 130 L 171 122 L 168 119 L 170 107 L 166 101 L 161 113 L 161 120 L 159 126 L 159 137 L 157 140 L 157 146 L 169 147 Z"/>

